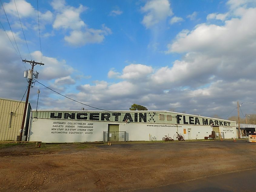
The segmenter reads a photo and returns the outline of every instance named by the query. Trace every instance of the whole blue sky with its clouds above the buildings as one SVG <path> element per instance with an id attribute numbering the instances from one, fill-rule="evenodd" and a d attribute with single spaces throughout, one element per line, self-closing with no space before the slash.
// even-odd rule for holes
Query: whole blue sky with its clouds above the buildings
<path id="1" fill-rule="evenodd" d="M 172 110 L 227 118 L 255 113 L 256 3 L 253 0 L 2 0 L 22 59 L 38 81 L 85 104 Z M 25 38 L 17 15 L 18 9 Z M 20 100 L 27 82 L 1 5 L 0 97 Z M 41 48 L 39 43 L 38 13 Z M 2 26 L 1 26 L 2 27 Z M 41 55 L 42 54 L 42 55 Z M 35 83 L 39 109 L 85 107 Z M 235 110 L 234 110 L 235 111 Z M 230 116 L 236 115 L 235 112 Z"/>

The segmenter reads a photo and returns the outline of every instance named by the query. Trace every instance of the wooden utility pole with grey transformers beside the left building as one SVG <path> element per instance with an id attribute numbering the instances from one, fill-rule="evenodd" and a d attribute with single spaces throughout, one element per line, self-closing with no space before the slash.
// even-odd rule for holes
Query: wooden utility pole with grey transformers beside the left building
<path id="1" fill-rule="evenodd" d="M 21 130 L 20 130 L 20 137 L 19 137 L 19 141 L 22 141 L 22 134 L 23 134 L 23 129 L 24 129 L 24 124 L 25 124 L 25 118 L 26 118 L 26 112 L 27 112 L 27 107 L 28 107 L 28 97 L 29 97 L 29 91 L 30 91 L 30 87 L 31 87 L 31 83 L 32 83 L 32 80 L 33 80 L 33 70 L 34 70 L 34 66 L 39 64 L 39 65 L 45 65 L 43 64 L 42 62 L 41 63 L 38 63 L 38 62 L 35 62 L 35 61 L 27 61 L 26 59 L 23 60 L 23 62 L 28 62 L 30 63 L 30 65 L 32 66 L 31 70 L 28 70 L 28 92 L 27 92 L 27 98 L 26 98 L 26 103 L 25 103 L 25 108 L 24 108 L 24 113 L 23 113 L 23 118 L 22 118 L 22 124 L 21 124 Z M 36 74 L 38 75 L 38 73 Z M 24 74 L 24 77 L 25 77 L 25 74 Z M 37 77 L 35 77 L 37 78 Z"/>

